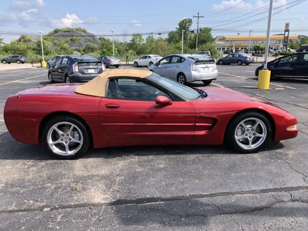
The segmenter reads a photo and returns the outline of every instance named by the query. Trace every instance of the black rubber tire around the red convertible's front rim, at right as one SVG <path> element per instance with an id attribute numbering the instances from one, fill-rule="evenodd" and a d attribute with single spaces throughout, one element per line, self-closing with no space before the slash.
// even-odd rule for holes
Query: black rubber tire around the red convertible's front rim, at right
<path id="1" fill-rule="evenodd" d="M 259 146 L 256 146 L 255 148 L 252 147 L 252 148 L 247 149 L 247 148 L 244 148 L 244 147 L 242 147 L 238 144 L 237 139 L 235 138 L 235 136 L 236 136 L 235 132 L 238 132 L 238 131 L 236 131 L 237 127 L 239 126 L 239 124 L 242 121 L 244 121 L 246 119 L 250 119 L 250 118 L 254 118 L 254 119 L 257 119 L 257 120 L 260 120 L 260 121 L 263 122 L 263 125 L 265 126 L 264 130 L 266 129 L 266 135 L 265 135 L 265 138 L 263 138 L 262 142 L 260 142 Z M 259 126 L 261 126 L 261 123 L 260 123 Z M 247 132 L 247 133 L 245 133 L 245 132 Z M 252 136 L 252 134 L 255 134 L 255 133 L 252 133 L 252 132 L 257 133 L 257 128 L 256 128 L 256 130 L 251 129 L 250 131 L 247 131 L 247 130 L 244 131 L 241 134 L 241 136 L 243 136 L 242 142 L 244 142 L 244 139 L 246 139 L 248 141 L 248 137 L 251 138 L 249 136 L 249 134 L 251 136 Z M 253 139 L 255 139 L 254 136 L 252 136 L 252 137 L 253 137 Z M 258 142 L 258 139 L 261 139 L 261 138 L 256 138 L 256 140 L 253 141 L 253 142 Z M 262 148 L 264 148 L 264 147 L 266 147 L 266 146 L 268 146 L 269 144 L 272 143 L 272 125 L 269 122 L 269 120 L 262 113 L 255 112 L 255 111 L 242 112 L 242 113 L 236 115 L 236 117 L 233 118 L 229 122 L 229 124 L 226 128 L 226 132 L 225 132 L 225 141 L 229 146 L 231 146 L 232 148 L 236 149 L 239 152 L 242 152 L 242 153 L 258 152 L 260 149 L 262 149 Z"/>

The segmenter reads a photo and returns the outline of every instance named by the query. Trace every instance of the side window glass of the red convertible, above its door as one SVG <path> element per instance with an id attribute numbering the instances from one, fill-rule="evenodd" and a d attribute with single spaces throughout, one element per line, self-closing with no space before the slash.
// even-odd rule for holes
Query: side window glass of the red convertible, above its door
<path id="1" fill-rule="evenodd" d="M 153 101 L 156 97 L 163 95 L 170 99 L 165 92 L 153 87 L 139 79 L 109 79 L 107 88 L 107 98 L 135 100 L 135 101 Z M 171 99 L 170 99 L 171 100 Z"/>

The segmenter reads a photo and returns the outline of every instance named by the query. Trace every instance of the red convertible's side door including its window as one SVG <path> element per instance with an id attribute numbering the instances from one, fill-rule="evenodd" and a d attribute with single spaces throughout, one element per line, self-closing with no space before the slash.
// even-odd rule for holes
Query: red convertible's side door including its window
<path id="1" fill-rule="evenodd" d="M 107 98 L 99 104 L 101 126 L 109 139 L 123 146 L 190 144 L 196 122 L 194 107 L 186 101 L 157 105 L 158 95 L 169 97 L 141 81 L 109 81 Z"/>

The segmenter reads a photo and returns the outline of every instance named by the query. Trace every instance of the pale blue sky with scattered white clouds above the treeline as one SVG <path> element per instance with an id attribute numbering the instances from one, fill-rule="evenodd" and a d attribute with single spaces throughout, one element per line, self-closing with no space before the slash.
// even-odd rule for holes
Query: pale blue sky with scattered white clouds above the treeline
<path id="1" fill-rule="evenodd" d="M 274 8 L 294 1 L 274 0 Z M 297 3 L 301 1 L 303 0 Z M 191 18 L 199 11 L 201 15 L 204 15 L 204 18 L 200 19 L 200 26 L 212 27 L 216 30 L 213 30 L 215 36 L 237 35 L 238 33 L 248 35 L 248 32 L 244 30 L 266 30 L 266 18 L 264 20 L 258 19 L 266 17 L 267 12 L 244 20 L 246 17 L 268 10 L 266 4 L 268 4 L 268 0 L 194 2 L 187 0 L 1 0 L 0 31 L 49 32 L 55 28 L 69 26 L 83 27 L 94 34 L 111 34 L 110 30 L 114 30 L 115 34 L 161 32 L 174 30 L 180 20 Z M 282 33 L 286 22 L 291 22 L 291 34 L 308 34 L 308 1 L 285 9 L 292 5 L 274 10 L 276 14 L 273 15 L 272 28 L 281 29 L 281 31 L 273 31 L 272 34 Z M 261 9 L 257 10 L 258 8 Z M 247 14 L 254 10 L 257 11 Z M 277 13 L 281 10 L 283 11 Z M 192 28 L 197 28 L 196 18 L 194 18 Z M 218 29 L 232 31 L 217 31 Z M 298 29 L 307 30 L 299 31 Z M 254 31 L 253 34 L 264 35 L 265 32 Z M 16 35 L 0 36 L 4 38 L 5 42 L 18 37 Z M 118 37 L 118 39 L 122 38 Z"/>

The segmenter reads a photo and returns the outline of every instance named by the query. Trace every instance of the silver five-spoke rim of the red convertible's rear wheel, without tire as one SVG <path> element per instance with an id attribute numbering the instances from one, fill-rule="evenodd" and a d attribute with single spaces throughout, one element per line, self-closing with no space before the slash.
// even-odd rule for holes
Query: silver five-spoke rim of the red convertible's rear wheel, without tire
<path id="1" fill-rule="evenodd" d="M 83 145 L 82 132 L 72 123 L 56 123 L 48 131 L 47 143 L 50 149 L 57 155 L 73 155 Z"/>

